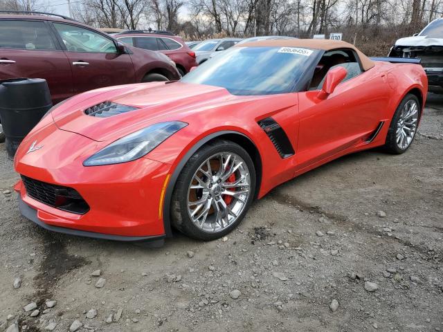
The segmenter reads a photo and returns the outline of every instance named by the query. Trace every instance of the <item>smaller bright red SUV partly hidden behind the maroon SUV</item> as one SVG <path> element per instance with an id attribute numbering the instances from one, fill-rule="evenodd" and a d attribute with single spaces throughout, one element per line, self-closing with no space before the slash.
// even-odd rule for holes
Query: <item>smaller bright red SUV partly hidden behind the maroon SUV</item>
<path id="1" fill-rule="evenodd" d="M 114 37 L 127 45 L 145 50 L 158 50 L 168 55 L 175 62 L 182 76 L 189 73 L 192 67 L 198 66 L 195 61 L 195 52 L 183 42 L 181 37 L 174 36 L 169 31 L 127 30 Z"/>

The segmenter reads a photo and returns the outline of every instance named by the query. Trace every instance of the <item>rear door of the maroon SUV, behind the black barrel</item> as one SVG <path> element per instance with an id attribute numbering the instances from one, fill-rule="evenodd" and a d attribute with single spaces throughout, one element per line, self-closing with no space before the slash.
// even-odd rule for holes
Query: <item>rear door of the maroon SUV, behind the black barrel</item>
<path id="1" fill-rule="evenodd" d="M 73 77 L 64 54 L 45 21 L 0 20 L 0 79 L 44 78 L 53 103 L 73 95 Z"/>

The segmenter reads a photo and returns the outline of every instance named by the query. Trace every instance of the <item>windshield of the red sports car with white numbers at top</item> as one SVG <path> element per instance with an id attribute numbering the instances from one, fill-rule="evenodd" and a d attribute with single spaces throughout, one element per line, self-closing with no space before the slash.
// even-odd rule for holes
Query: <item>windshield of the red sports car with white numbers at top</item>
<path id="1" fill-rule="evenodd" d="M 317 52 L 296 47 L 233 47 L 198 66 L 181 82 L 220 86 L 233 95 L 289 93 Z"/>

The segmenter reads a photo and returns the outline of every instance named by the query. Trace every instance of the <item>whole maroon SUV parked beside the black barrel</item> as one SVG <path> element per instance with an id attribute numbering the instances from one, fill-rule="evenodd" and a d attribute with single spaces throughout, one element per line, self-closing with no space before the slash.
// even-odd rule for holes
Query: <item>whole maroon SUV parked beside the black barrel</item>
<path id="1" fill-rule="evenodd" d="M 49 15 L 0 15 L 0 80 L 44 78 L 55 104 L 104 86 L 180 78 L 175 64 L 161 53 Z"/>

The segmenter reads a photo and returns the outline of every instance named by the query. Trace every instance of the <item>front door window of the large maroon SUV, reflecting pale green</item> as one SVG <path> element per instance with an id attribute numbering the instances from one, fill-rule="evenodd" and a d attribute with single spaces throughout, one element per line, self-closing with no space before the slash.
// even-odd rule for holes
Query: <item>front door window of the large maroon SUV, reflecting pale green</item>
<path id="1" fill-rule="evenodd" d="M 55 23 L 54 26 L 70 52 L 117 53 L 114 41 L 99 33 L 70 24 Z"/>

